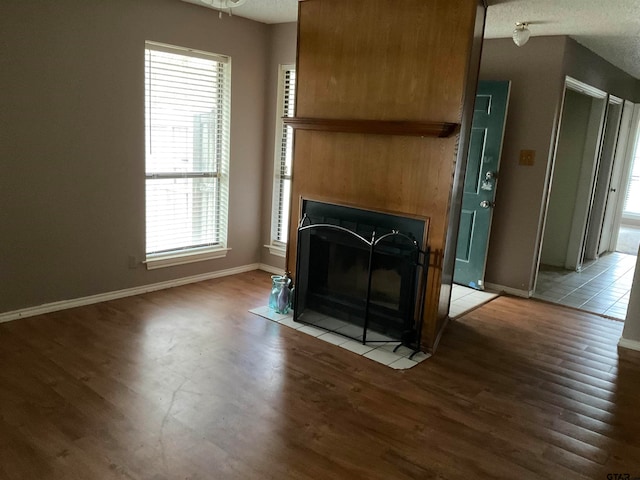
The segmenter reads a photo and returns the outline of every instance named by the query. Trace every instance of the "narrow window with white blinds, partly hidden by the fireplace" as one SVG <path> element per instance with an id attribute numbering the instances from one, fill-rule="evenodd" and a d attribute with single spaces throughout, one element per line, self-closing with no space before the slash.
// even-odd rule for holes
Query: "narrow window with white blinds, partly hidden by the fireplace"
<path id="1" fill-rule="evenodd" d="M 271 220 L 271 253 L 284 256 L 289 227 L 291 194 L 291 163 L 293 158 L 293 129 L 285 126 L 282 117 L 293 117 L 295 105 L 296 71 L 293 65 L 280 67 L 278 87 L 278 119 L 273 183 Z"/>

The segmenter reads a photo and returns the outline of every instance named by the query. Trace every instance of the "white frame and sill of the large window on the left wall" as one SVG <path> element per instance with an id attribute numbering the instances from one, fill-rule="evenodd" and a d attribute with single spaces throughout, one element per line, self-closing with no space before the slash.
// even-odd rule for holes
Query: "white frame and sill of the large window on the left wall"
<path id="1" fill-rule="evenodd" d="M 229 162 L 230 162 L 230 136 L 231 136 L 231 57 L 205 52 L 201 50 L 195 50 L 187 47 L 180 47 L 175 45 L 168 45 L 164 43 L 158 43 L 154 41 L 145 41 L 144 45 L 144 70 L 145 70 L 145 102 L 144 102 L 144 119 L 145 119 L 145 261 L 147 269 L 152 270 L 156 268 L 170 267 L 174 265 L 182 265 L 193 262 L 200 262 L 205 260 L 211 260 L 215 258 L 225 257 L 230 248 L 227 247 L 227 231 L 228 231 L 228 200 L 229 200 Z M 213 157 L 213 163 L 209 166 L 207 171 L 205 169 L 199 169 L 197 171 L 175 171 L 175 172 L 163 172 L 154 171 L 149 169 L 148 165 L 148 153 L 153 148 L 151 142 L 150 133 L 150 120 L 153 117 L 148 116 L 148 109 L 150 108 L 150 100 L 148 96 L 148 89 L 150 84 L 150 75 L 148 70 L 150 61 L 147 58 L 147 51 L 159 51 L 165 53 L 171 53 L 174 55 L 182 55 L 190 58 L 200 58 L 208 61 L 217 62 L 216 68 L 219 68 L 222 72 L 221 79 L 221 98 L 218 100 L 219 107 L 214 110 L 215 115 L 221 122 L 219 129 L 220 134 L 217 135 L 219 142 L 219 150 Z M 218 90 L 219 92 L 219 90 Z M 214 129 L 210 130 L 213 134 Z M 195 135 L 194 132 L 191 132 Z M 218 138 L 219 137 L 219 138 Z M 193 161 L 193 160 L 192 160 Z M 174 167 L 175 168 L 175 167 Z M 200 171 L 202 170 L 202 171 Z M 149 252 L 149 238 L 148 238 L 148 195 L 149 195 L 149 181 L 154 180 L 184 180 L 184 179 L 199 179 L 210 178 L 216 181 L 216 202 L 217 206 L 214 211 L 210 212 L 213 218 L 210 218 L 213 228 L 216 232 L 216 241 L 214 243 L 206 245 L 186 245 L 182 247 L 171 248 L 166 251 Z M 203 217 L 194 217 L 203 218 Z"/>

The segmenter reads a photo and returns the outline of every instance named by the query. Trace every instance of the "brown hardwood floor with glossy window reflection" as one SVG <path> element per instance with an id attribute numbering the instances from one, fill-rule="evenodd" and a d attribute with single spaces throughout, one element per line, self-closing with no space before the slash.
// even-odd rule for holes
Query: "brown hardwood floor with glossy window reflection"
<path id="1" fill-rule="evenodd" d="M 0 325 L 0 478 L 640 477 L 622 323 L 501 297 L 397 371 L 248 313 L 269 285 L 250 272 Z"/>

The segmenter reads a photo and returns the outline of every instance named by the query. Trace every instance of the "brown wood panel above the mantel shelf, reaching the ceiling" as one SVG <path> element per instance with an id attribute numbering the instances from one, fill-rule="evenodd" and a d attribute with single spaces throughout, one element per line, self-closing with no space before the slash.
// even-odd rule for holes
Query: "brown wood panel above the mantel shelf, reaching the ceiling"
<path id="1" fill-rule="evenodd" d="M 296 115 L 459 123 L 475 0 L 300 4 Z"/>

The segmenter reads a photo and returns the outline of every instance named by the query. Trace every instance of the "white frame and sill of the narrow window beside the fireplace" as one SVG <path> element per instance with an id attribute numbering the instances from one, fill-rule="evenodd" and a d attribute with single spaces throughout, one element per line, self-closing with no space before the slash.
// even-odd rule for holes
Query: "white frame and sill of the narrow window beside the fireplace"
<path id="1" fill-rule="evenodd" d="M 293 72 L 294 78 L 292 83 L 291 90 L 293 91 L 292 95 L 289 95 L 288 98 L 286 96 L 286 75 L 288 72 Z M 293 129 L 291 127 L 287 127 L 284 124 L 283 117 L 285 116 L 285 102 L 293 101 L 295 103 L 295 89 L 296 89 L 296 81 L 295 81 L 295 72 L 296 66 L 295 64 L 282 64 L 278 67 L 278 95 L 277 95 L 277 110 L 276 110 L 276 128 L 275 128 L 275 145 L 274 145 L 274 155 L 273 155 L 273 190 L 272 190 L 272 198 L 271 198 L 271 228 L 270 228 L 270 243 L 269 245 L 265 245 L 269 249 L 269 253 L 272 255 L 276 255 L 279 257 L 284 257 L 286 255 L 287 242 L 282 241 L 282 237 L 278 235 L 278 226 L 280 225 L 280 230 L 289 228 L 288 221 L 287 225 L 282 225 L 279 221 L 282 216 L 282 211 L 280 209 L 282 202 L 289 203 L 291 199 L 281 200 L 281 185 L 280 182 L 283 180 L 281 178 L 280 172 L 282 171 L 283 163 L 286 163 L 287 151 L 283 152 L 282 145 L 288 140 L 288 136 L 291 137 L 291 152 L 293 155 Z M 293 106 L 292 110 L 295 108 Z M 287 142 L 288 143 L 288 142 Z M 291 174 L 284 175 L 284 179 L 289 182 L 292 181 Z M 291 183 L 289 183 L 291 185 Z M 291 206 L 289 205 L 289 209 Z M 287 231 L 287 236 L 288 236 Z M 288 239 L 287 239 L 288 240 Z"/>

